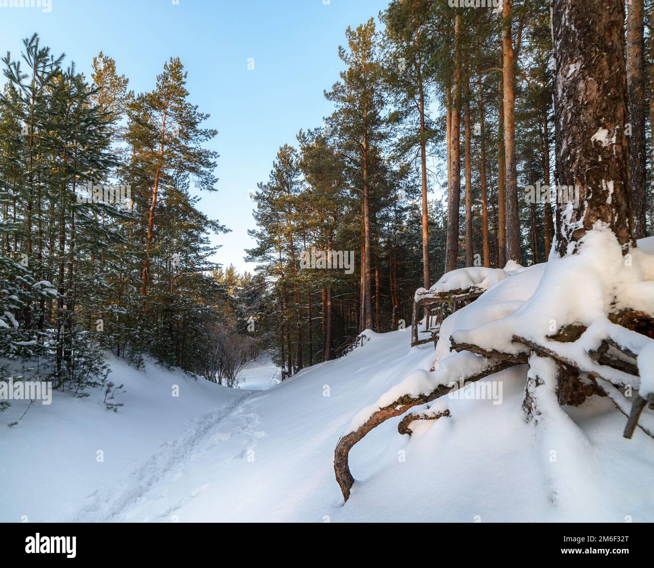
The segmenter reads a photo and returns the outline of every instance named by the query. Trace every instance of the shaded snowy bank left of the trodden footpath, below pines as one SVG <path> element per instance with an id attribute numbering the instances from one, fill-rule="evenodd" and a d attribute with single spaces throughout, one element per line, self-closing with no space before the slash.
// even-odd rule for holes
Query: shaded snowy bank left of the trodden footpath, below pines
<path id="1" fill-rule="evenodd" d="M 249 394 L 152 361 L 140 371 L 122 359 L 108 362 L 111 380 L 124 384 L 114 401 L 124 407 L 116 413 L 105 410 L 103 393 L 90 390 L 86 399 L 55 391 L 50 405 L 34 403 L 22 419 L 28 401 L 12 401 L 0 414 L 0 522 L 69 518 L 89 495 L 102 487 L 113 491 L 137 465 L 146 482 L 143 464 L 156 475 Z"/>

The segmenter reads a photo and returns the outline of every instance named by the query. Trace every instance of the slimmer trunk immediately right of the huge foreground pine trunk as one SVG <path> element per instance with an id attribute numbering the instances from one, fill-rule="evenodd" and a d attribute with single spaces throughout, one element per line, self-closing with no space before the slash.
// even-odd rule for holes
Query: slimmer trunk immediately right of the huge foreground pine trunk
<path id="1" fill-rule="evenodd" d="M 627 8 L 627 90 L 629 95 L 629 170 L 634 209 L 634 237 L 645 237 L 645 9 L 643 0 L 629 0 Z"/>

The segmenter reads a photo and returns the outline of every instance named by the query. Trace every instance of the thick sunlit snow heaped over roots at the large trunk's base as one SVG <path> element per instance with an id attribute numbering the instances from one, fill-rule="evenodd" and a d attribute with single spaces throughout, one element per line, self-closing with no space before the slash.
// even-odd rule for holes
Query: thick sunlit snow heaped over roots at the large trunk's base
<path id="1" fill-rule="evenodd" d="M 513 335 L 519 335 L 541 344 L 547 343 L 548 348 L 559 354 L 568 350 L 568 355 L 579 361 L 588 359 L 585 352 L 581 352 L 583 341 L 561 344 L 548 341 L 547 335 L 567 324 L 606 325 L 608 312 L 626 307 L 654 312 L 654 284 L 645 281 L 654 273 L 654 256 L 638 248 L 623 256 L 615 236 L 601 222 L 596 222 L 594 230 L 586 233 L 577 254 L 565 258 L 554 255 L 542 270 L 533 300 L 525 301 L 509 316 L 492 320 L 473 332 L 458 331 L 457 341 L 473 341 L 489 350 L 515 353 L 525 350 L 511 342 Z M 525 273 L 517 276 L 522 274 Z M 456 329 L 470 327 L 456 326 Z M 441 337 L 443 335 L 441 327 Z M 624 375 L 619 371 L 616 373 L 618 378 Z"/>

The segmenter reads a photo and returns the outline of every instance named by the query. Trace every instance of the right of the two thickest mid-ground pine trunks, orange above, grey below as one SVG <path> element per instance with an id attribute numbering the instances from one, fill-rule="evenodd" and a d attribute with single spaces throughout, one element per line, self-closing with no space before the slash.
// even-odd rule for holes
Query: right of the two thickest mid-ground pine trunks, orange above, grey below
<path id="1" fill-rule="evenodd" d="M 504 162 L 506 164 L 506 256 L 521 262 L 520 216 L 518 208 L 518 173 L 515 163 L 515 61 L 511 38 L 512 0 L 504 0 L 502 12 L 502 76 L 504 77 Z"/>

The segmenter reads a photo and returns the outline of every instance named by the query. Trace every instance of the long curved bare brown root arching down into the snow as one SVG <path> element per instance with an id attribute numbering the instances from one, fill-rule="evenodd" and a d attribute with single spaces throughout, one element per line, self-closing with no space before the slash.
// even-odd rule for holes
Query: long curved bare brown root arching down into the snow
<path id="1" fill-rule="evenodd" d="M 454 377 L 453 380 L 462 381 L 463 384 L 468 384 L 470 382 L 475 382 L 486 376 L 494 375 L 494 373 L 499 373 L 508 369 L 509 367 L 515 366 L 517 363 L 514 361 L 497 361 L 496 364 L 490 366 L 485 371 L 481 371 L 476 375 L 464 376 L 464 377 Z M 385 406 L 383 409 L 377 410 L 374 412 L 368 420 L 358 429 L 346 434 L 345 436 L 339 439 L 338 444 L 336 444 L 336 450 L 334 450 L 334 473 L 336 474 L 336 481 L 341 488 L 341 493 L 343 493 L 344 501 L 347 501 L 350 497 L 350 490 L 354 485 L 354 478 L 350 472 L 350 467 L 348 463 L 348 456 L 350 450 L 353 448 L 354 444 L 360 441 L 368 432 L 371 431 L 379 424 L 386 422 L 388 418 L 393 418 L 394 416 L 400 416 L 404 414 L 410 408 L 413 408 L 417 405 L 426 404 L 437 398 L 450 392 L 451 387 L 447 384 L 440 384 L 432 392 L 413 397 L 411 395 L 404 395 L 398 398 L 396 401 L 390 403 L 390 405 Z"/>

